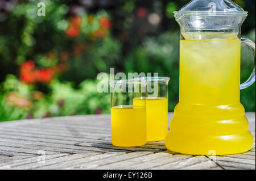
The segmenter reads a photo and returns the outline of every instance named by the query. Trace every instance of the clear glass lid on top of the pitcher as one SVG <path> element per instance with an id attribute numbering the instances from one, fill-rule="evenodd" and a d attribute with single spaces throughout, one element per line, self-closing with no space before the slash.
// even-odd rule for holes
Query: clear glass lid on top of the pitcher
<path id="1" fill-rule="evenodd" d="M 174 11 L 177 15 L 184 14 L 241 14 L 247 15 L 247 11 L 231 0 L 193 0 L 183 6 L 179 11 Z"/>

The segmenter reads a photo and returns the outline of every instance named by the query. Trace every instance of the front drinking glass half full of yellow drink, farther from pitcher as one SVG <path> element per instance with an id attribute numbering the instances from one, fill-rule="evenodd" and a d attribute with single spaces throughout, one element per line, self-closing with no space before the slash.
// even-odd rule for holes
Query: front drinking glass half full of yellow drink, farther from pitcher
<path id="1" fill-rule="evenodd" d="M 146 103 L 133 99 L 146 96 L 146 83 L 133 80 L 110 81 L 111 140 L 114 146 L 146 144 Z"/>

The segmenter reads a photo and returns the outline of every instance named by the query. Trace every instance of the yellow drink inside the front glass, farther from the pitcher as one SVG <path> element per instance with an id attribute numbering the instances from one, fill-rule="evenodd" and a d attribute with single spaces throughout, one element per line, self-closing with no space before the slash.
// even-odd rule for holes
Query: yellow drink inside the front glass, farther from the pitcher
<path id="1" fill-rule="evenodd" d="M 146 144 L 146 108 L 112 107 L 111 137 L 114 146 L 130 147 Z"/>

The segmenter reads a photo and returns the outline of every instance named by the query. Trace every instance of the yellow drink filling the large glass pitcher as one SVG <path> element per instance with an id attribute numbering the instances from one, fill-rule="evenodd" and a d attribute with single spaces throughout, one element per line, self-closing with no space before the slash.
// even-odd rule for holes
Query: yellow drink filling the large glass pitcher
<path id="1" fill-rule="evenodd" d="M 250 150 L 240 103 L 239 39 L 181 40 L 179 103 L 166 147 L 185 154 L 236 154 Z"/>

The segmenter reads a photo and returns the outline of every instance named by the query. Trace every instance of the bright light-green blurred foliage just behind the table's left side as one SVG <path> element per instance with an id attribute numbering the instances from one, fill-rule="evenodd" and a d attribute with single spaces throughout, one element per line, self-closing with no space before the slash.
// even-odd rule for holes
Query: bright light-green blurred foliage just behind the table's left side
<path id="1" fill-rule="evenodd" d="M 34 86 L 24 85 L 19 82 L 14 75 L 8 75 L 3 83 L 3 91 L 16 92 L 23 96 L 32 104 L 32 108 L 15 107 L 5 98 L 6 95 L 0 96 L 0 121 L 25 119 L 32 114 L 33 117 L 48 116 L 68 116 L 84 115 L 110 112 L 110 94 L 99 93 L 97 91 L 98 80 L 86 79 L 81 82 L 79 89 L 74 89 L 71 82 L 60 82 L 53 80 L 49 87 L 51 93 L 44 96 L 43 99 L 33 100 L 31 90 Z M 5 100 L 4 100 L 5 99 Z M 63 104 L 60 104 L 60 101 Z"/>

